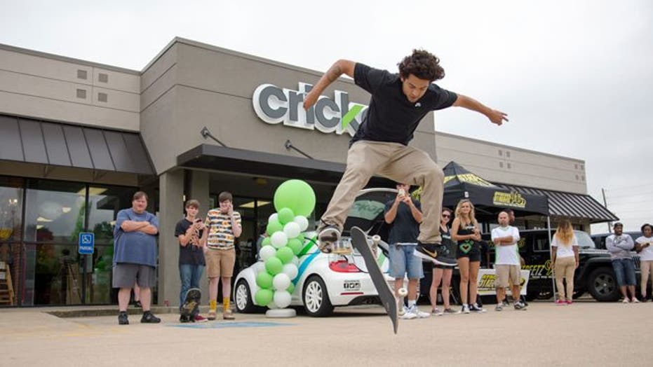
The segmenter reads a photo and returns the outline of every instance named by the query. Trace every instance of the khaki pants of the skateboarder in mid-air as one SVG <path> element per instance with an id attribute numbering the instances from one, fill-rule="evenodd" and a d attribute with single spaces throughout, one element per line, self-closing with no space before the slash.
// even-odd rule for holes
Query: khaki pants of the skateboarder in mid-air
<path id="1" fill-rule="evenodd" d="M 347 152 L 347 168 L 322 216 L 324 223 L 342 226 L 358 191 L 375 174 L 393 181 L 422 186 L 422 214 L 419 226 L 420 242 L 440 242 L 440 212 L 444 174 L 431 157 L 412 146 L 379 141 L 356 141 Z"/>

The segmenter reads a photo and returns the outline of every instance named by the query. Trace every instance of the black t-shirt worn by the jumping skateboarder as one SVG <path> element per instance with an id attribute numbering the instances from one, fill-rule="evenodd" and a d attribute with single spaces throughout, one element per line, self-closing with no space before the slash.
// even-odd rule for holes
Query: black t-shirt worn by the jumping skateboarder
<path id="1" fill-rule="evenodd" d="M 431 83 L 422 98 L 415 103 L 409 102 L 401 90 L 398 74 L 361 63 L 354 68 L 354 82 L 370 92 L 372 98 L 363 123 L 351 139 L 352 144 L 358 140 L 371 140 L 408 145 L 426 113 L 445 109 L 458 97 L 456 93 Z"/>

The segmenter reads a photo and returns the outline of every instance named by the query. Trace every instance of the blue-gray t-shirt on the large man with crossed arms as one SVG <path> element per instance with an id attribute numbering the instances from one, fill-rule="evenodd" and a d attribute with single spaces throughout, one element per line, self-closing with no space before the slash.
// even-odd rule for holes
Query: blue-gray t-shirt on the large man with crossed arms
<path id="1" fill-rule="evenodd" d="M 147 221 L 159 229 L 159 219 L 152 213 L 137 214 L 131 208 L 118 212 L 114 227 L 114 265 L 130 263 L 156 268 L 156 235 L 148 235 L 140 230 L 125 232 L 120 228 L 123 221 Z"/>

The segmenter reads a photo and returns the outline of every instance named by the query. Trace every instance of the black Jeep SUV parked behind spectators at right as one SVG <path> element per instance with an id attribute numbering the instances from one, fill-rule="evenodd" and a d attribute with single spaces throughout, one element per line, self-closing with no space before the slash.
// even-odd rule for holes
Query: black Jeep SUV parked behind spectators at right
<path id="1" fill-rule="evenodd" d="M 574 274 L 574 298 L 589 292 L 598 301 L 619 300 L 619 286 L 612 270 L 610 254 L 597 249 L 591 237 L 582 231 L 574 230 L 579 244 L 579 266 Z M 550 243 L 547 230 L 520 230 L 519 253 L 530 270 L 526 290 L 527 300 L 548 299 L 553 296 L 553 269 L 551 269 Z M 494 246 L 490 234 L 483 235 L 490 242 L 490 257 L 494 258 Z M 635 259 L 635 270 L 639 279 L 639 257 Z"/>

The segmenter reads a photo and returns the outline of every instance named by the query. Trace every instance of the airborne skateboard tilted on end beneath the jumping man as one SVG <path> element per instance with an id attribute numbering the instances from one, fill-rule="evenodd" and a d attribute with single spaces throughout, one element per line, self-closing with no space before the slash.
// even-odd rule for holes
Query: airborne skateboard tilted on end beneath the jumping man
<path id="1" fill-rule="evenodd" d="M 377 264 L 377 259 L 372 253 L 370 244 L 368 244 L 368 236 L 358 227 L 352 227 L 350 233 L 351 244 L 353 244 L 354 248 L 361 253 L 361 256 L 363 256 L 365 266 L 367 266 L 370 278 L 372 278 L 372 283 L 374 283 L 377 293 L 379 293 L 381 304 L 386 309 L 390 321 L 392 321 L 394 333 L 396 334 L 397 328 L 399 327 L 397 298 L 392 289 L 390 289 L 381 268 L 379 268 L 379 265 Z"/>

